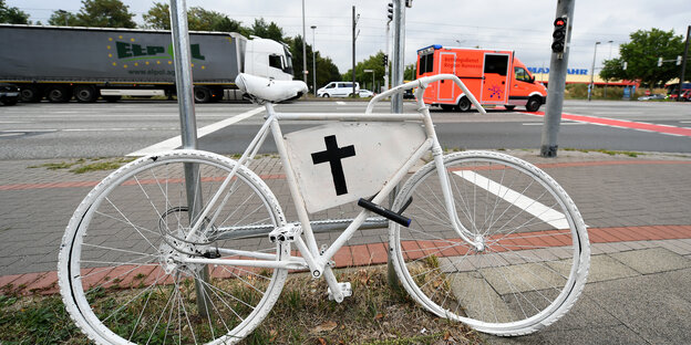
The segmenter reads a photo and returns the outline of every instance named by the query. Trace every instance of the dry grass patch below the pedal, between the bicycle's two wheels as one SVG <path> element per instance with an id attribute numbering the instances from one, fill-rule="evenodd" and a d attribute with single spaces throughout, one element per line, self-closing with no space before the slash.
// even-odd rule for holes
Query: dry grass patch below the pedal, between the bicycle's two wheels
<path id="1" fill-rule="evenodd" d="M 465 325 L 436 317 L 392 290 L 385 268 L 337 271 L 353 295 L 328 301 L 326 282 L 289 276 L 269 316 L 247 344 L 481 344 Z"/>

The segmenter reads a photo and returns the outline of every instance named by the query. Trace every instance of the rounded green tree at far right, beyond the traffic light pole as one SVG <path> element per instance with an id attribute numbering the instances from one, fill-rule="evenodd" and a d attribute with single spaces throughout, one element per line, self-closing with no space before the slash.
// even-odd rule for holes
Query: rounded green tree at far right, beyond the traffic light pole
<path id="1" fill-rule="evenodd" d="M 674 60 L 677 55 L 682 55 L 681 35 L 674 35 L 673 30 L 662 31 L 653 28 L 650 31 L 638 30 L 629 36 L 631 41 L 619 48 L 620 58 L 605 61 L 600 77 L 640 80 L 648 87 L 679 77 L 680 66 L 673 63 L 663 63 L 662 66 L 658 66 L 658 59 Z M 626 70 L 623 70 L 623 62 L 627 62 Z"/>

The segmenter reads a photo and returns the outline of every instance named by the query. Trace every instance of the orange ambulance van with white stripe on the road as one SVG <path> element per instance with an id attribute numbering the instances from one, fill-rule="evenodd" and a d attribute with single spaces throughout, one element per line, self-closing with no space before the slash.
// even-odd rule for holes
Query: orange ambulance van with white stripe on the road
<path id="1" fill-rule="evenodd" d="M 525 106 L 537 112 L 545 103 L 547 88 L 535 82 L 528 69 L 513 51 L 446 48 L 430 45 L 417 51 L 417 77 L 436 74 L 457 75 L 483 105 L 503 105 L 513 109 Z M 430 84 L 424 103 L 445 111 L 466 112 L 471 102 L 452 81 Z"/>

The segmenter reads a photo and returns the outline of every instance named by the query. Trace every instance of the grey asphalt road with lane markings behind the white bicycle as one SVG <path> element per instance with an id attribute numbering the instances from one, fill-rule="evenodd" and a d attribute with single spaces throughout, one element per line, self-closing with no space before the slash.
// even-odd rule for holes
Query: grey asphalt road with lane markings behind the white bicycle
<path id="1" fill-rule="evenodd" d="M 364 107 L 365 103 L 360 102 L 329 101 L 281 104 L 277 109 L 362 113 Z M 197 105 L 197 127 L 212 126 L 207 128 L 210 133 L 200 137 L 199 148 L 221 154 L 241 153 L 262 123 L 265 113 L 221 128 L 214 124 L 257 108 L 248 103 Z M 388 103 L 381 103 L 374 112 L 388 111 Z M 414 112 L 414 104 L 406 103 L 404 111 Z M 123 156 L 179 135 L 177 112 L 176 103 L 147 101 L 3 106 L 0 107 L 0 159 Z M 688 103 L 566 101 L 564 113 L 691 128 L 691 104 Z M 543 117 L 520 109 L 489 109 L 487 115 L 481 115 L 433 108 L 433 119 L 440 140 L 447 148 L 540 146 Z M 286 123 L 282 129 L 288 133 L 306 126 Z M 691 136 L 564 121 L 558 145 L 560 148 L 691 153 Z M 261 151 L 275 151 L 270 139 Z"/>

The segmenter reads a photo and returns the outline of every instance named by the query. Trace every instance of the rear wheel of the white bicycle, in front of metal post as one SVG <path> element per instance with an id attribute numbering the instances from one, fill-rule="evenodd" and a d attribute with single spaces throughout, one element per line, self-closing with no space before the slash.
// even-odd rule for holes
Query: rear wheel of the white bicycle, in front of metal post
<path id="1" fill-rule="evenodd" d="M 285 219 L 265 182 L 245 167 L 221 195 L 223 208 L 219 200 L 204 231 L 189 236 L 190 213 L 206 208 L 236 165 L 210 153 L 169 151 L 127 164 L 86 196 L 65 231 L 58 272 L 65 307 L 91 339 L 231 344 L 264 320 L 286 270 L 184 261 L 289 253 L 256 238 Z"/>

